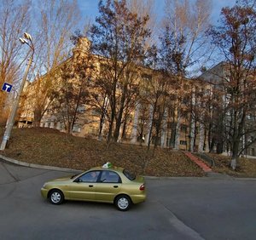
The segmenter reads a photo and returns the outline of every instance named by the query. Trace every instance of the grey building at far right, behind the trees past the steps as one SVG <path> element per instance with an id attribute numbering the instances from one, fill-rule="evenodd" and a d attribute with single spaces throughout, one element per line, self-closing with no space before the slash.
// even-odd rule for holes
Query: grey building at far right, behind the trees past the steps
<path id="1" fill-rule="evenodd" d="M 230 107 L 230 102 L 232 101 L 230 97 L 230 87 L 232 88 L 234 83 L 231 83 L 231 77 L 234 72 L 232 72 L 232 66 L 228 63 L 220 62 L 218 65 L 213 66 L 211 69 L 203 72 L 200 76 L 202 81 L 210 83 L 212 85 L 212 89 L 219 91 L 219 103 L 222 105 L 222 111 L 215 112 L 216 116 L 219 116 L 221 119 L 218 125 L 222 125 L 223 133 L 228 133 L 230 131 L 231 126 L 231 117 L 234 116 L 232 112 L 233 109 Z M 243 72 L 243 71 L 241 71 Z M 247 71 L 245 71 L 247 72 Z M 255 79 L 255 74 L 247 74 L 247 78 Z M 241 76 L 241 92 L 248 88 L 254 88 L 251 84 L 247 86 L 247 83 L 243 83 L 243 78 Z M 245 91 L 246 94 L 246 91 Z M 244 99 L 246 99 L 244 97 Z M 256 143 L 255 143 L 255 123 L 256 123 L 256 112 L 255 112 L 255 104 L 253 102 L 250 103 L 251 110 L 247 109 L 247 116 L 246 121 L 244 123 L 244 133 L 240 139 L 240 149 L 242 150 L 241 156 L 249 157 L 249 156 L 256 156 Z M 232 105 L 231 105 L 232 106 Z M 241 107 L 243 107 L 241 105 Z M 249 130 L 248 130 L 249 129 Z M 229 146 L 229 136 L 221 136 L 215 147 L 215 151 L 218 151 L 218 146 L 220 146 L 221 151 L 230 154 L 230 146 Z"/>

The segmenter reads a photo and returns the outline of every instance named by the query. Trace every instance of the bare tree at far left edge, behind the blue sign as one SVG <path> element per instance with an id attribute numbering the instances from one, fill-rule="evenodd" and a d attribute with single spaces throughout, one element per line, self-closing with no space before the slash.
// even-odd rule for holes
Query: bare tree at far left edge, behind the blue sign
<path id="1" fill-rule="evenodd" d="M 4 82 L 15 83 L 20 79 L 20 66 L 26 60 L 26 54 L 22 55 L 19 37 L 29 30 L 29 6 L 31 1 L 17 3 L 14 0 L 3 0 L 0 4 L 0 86 Z M 27 51 L 26 51 L 27 52 Z M 18 88 L 18 85 L 16 85 Z M 0 94 L 0 116 L 3 116 L 6 107 L 7 94 Z"/>

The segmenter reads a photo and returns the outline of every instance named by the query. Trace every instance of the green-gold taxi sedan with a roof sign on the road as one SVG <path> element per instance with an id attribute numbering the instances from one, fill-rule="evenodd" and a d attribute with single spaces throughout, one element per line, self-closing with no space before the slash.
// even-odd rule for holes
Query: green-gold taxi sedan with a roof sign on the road
<path id="1" fill-rule="evenodd" d="M 114 203 L 120 211 L 146 199 L 142 176 L 135 176 L 109 163 L 82 174 L 50 180 L 44 183 L 41 194 L 53 204 L 61 204 L 64 200 Z"/>

